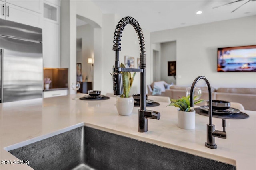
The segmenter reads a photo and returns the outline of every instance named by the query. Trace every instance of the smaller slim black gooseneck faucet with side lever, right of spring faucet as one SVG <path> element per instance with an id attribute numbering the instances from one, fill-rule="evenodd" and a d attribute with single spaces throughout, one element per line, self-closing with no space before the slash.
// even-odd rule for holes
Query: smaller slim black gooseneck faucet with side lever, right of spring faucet
<path id="1" fill-rule="evenodd" d="M 207 141 L 204 144 L 206 147 L 211 148 L 211 149 L 216 149 L 217 145 L 215 143 L 215 137 L 222 138 L 222 139 L 227 139 L 227 133 L 225 131 L 226 127 L 226 120 L 222 121 L 222 126 L 223 126 L 223 131 L 218 131 L 215 130 L 215 125 L 212 124 L 212 88 L 205 76 L 198 76 L 194 82 L 192 83 L 191 89 L 190 89 L 190 107 L 194 107 L 194 99 L 193 99 L 193 94 L 194 94 L 194 88 L 196 86 L 196 83 L 200 80 L 203 79 L 208 87 L 208 93 L 209 93 L 209 107 L 208 107 L 208 116 L 209 116 L 209 124 L 207 124 Z"/>

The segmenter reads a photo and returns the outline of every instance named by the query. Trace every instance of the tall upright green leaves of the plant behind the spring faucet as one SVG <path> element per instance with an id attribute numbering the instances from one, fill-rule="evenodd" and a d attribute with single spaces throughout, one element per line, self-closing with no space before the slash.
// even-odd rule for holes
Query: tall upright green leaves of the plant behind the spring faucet
<path id="1" fill-rule="evenodd" d="M 120 67 L 125 68 L 123 63 L 120 64 Z M 124 94 L 121 95 L 121 98 L 128 98 L 136 72 L 134 73 L 121 72 L 121 73 L 123 77 L 123 87 L 124 87 Z"/>

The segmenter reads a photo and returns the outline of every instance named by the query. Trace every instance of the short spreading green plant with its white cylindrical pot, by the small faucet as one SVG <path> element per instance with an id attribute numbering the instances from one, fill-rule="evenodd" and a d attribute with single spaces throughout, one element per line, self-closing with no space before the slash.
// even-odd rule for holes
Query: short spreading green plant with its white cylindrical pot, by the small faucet
<path id="1" fill-rule="evenodd" d="M 171 99 L 171 103 L 167 106 L 178 107 L 178 124 L 177 126 L 182 129 L 195 129 L 196 111 L 190 109 L 190 96 L 182 97 L 180 99 Z M 194 96 L 194 99 L 198 96 Z M 197 100 L 194 104 L 203 102 L 203 99 Z"/>

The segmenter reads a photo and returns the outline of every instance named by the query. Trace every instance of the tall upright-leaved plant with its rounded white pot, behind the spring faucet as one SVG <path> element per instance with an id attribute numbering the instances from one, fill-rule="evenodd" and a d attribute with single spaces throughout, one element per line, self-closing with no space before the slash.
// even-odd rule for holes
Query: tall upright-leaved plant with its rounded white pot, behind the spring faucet
<path id="1" fill-rule="evenodd" d="M 120 64 L 120 67 L 125 68 L 123 63 Z M 136 73 L 135 72 L 134 73 L 121 72 L 121 73 L 123 77 L 124 94 L 116 98 L 116 109 L 120 115 L 130 115 L 134 107 L 134 99 L 132 96 L 129 96 L 129 93 L 130 93 L 132 83 Z"/>

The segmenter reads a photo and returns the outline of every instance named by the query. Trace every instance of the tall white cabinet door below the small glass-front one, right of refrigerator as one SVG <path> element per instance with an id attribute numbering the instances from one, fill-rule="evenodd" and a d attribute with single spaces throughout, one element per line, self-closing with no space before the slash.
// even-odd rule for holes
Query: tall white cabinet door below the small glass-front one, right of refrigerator
<path id="1" fill-rule="evenodd" d="M 59 25 L 44 19 L 43 27 L 44 67 L 60 68 L 60 29 Z"/>

